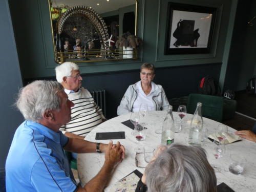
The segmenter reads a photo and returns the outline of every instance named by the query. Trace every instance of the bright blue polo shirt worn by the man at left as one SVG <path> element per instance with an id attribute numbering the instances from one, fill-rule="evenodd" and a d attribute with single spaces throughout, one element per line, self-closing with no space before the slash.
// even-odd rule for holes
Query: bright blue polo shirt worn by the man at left
<path id="1" fill-rule="evenodd" d="M 77 188 L 60 131 L 24 121 L 15 132 L 6 159 L 7 191 L 74 191 Z"/>

